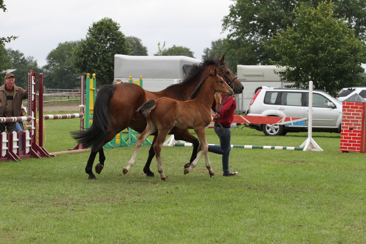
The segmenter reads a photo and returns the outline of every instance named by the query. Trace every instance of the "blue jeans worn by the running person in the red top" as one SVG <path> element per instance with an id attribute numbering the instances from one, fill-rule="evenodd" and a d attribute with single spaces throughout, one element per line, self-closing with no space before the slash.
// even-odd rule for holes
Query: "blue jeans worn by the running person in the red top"
<path id="1" fill-rule="evenodd" d="M 223 173 L 227 174 L 230 172 L 229 169 L 229 154 L 231 150 L 230 138 L 231 131 L 230 128 L 222 129 L 220 126 L 214 125 L 213 129 L 220 139 L 220 147 L 218 146 L 208 146 L 208 151 L 211 153 L 221 154 L 223 155 Z"/>

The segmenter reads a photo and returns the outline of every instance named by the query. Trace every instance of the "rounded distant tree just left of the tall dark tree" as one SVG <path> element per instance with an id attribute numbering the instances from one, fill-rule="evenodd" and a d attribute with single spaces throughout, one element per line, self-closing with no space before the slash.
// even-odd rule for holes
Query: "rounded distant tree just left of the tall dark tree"
<path id="1" fill-rule="evenodd" d="M 59 43 L 46 57 L 44 86 L 48 88 L 75 89 L 80 88 L 80 76 L 71 67 L 72 50 L 77 41 Z"/>

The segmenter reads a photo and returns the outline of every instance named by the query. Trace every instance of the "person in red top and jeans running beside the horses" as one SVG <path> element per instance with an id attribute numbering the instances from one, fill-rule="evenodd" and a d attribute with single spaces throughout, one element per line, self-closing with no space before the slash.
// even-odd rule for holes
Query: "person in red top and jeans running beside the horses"
<path id="1" fill-rule="evenodd" d="M 234 98 L 226 97 L 226 95 L 222 93 L 216 93 L 215 99 L 213 100 L 212 110 L 215 112 L 214 119 L 216 122 L 214 124 L 214 130 L 219 136 L 220 139 L 220 147 L 209 145 L 208 151 L 211 153 L 217 153 L 223 155 L 223 176 L 236 176 L 238 172 L 231 172 L 229 169 L 229 154 L 231 150 L 230 138 L 231 138 L 231 130 L 230 126 L 232 121 L 234 120 L 234 111 L 236 109 L 236 102 Z M 219 106 L 222 101 L 224 101 L 220 110 Z M 217 121 L 220 122 L 221 126 Z"/>

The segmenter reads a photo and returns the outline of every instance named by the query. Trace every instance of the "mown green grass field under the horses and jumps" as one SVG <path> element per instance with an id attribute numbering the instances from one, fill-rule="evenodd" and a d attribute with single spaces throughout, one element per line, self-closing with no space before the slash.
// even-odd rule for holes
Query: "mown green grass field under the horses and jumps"
<path id="1" fill-rule="evenodd" d="M 57 111 L 55 113 L 63 113 Z M 78 119 L 46 121 L 49 152 L 73 148 Z M 209 143 L 219 143 L 212 129 Z M 149 147 L 105 150 L 97 180 L 89 153 L 0 162 L 0 243 L 365 243 L 365 154 L 339 153 L 340 134 L 313 133 L 323 152 L 232 149 L 183 174 L 191 147 L 163 147 L 167 181 L 146 177 Z M 300 146 L 306 133 L 232 130 L 232 144 Z M 95 162 L 96 164 L 96 162 Z M 94 164 L 94 166 L 95 166 Z"/>

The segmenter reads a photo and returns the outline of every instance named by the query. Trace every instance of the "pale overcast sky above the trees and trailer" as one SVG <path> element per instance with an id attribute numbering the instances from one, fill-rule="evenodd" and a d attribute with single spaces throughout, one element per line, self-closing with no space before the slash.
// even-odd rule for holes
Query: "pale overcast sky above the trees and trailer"
<path id="1" fill-rule="evenodd" d="M 0 36 L 19 36 L 5 45 L 33 56 L 39 66 L 60 42 L 84 39 L 88 27 L 103 17 L 119 23 L 126 36 L 135 36 L 157 53 L 157 43 L 167 48 L 185 46 L 201 59 L 211 41 L 226 37 L 222 19 L 231 0 L 5 0 L 0 12 Z"/>

